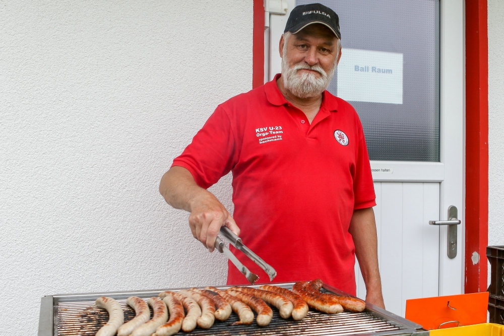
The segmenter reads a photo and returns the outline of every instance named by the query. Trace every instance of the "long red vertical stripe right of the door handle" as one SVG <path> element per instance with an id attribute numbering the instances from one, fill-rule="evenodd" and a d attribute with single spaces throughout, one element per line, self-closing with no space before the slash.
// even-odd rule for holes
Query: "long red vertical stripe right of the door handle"
<path id="1" fill-rule="evenodd" d="M 488 34 L 487 0 L 466 0 L 465 292 L 487 290 Z M 474 263 L 476 254 L 479 262 Z"/>

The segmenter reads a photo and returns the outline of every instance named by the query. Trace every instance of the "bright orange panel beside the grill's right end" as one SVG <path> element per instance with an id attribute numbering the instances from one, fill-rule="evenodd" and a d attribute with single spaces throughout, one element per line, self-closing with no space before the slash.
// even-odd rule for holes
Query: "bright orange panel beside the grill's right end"
<path id="1" fill-rule="evenodd" d="M 487 308 L 488 292 L 411 299 L 406 300 L 406 319 L 427 330 L 450 328 L 485 323 Z"/>

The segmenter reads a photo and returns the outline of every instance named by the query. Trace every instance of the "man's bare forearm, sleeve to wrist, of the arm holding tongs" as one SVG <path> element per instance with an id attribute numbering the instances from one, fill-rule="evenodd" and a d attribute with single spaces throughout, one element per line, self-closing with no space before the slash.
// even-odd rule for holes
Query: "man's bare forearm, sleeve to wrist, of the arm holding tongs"
<path id="1" fill-rule="evenodd" d="M 161 178 L 159 192 L 176 209 L 191 212 L 192 204 L 199 198 L 212 197 L 207 190 L 196 184 L 193 175 L 184 167 L 173 166 Z"/>

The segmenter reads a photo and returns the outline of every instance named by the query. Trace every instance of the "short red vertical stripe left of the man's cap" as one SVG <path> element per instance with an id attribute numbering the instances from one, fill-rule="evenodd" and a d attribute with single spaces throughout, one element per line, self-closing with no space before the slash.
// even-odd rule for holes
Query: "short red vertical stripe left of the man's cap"
<path id="1" fill-rule="evenodd" d="M 264 84 L 264 2 L 254 0 L 252 88 Z"/>

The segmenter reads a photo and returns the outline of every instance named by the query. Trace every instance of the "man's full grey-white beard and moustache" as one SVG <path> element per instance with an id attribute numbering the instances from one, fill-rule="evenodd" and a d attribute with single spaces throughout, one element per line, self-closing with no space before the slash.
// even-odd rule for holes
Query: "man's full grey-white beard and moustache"
<path id="1" fill-rule="evenodd" d="M 326 73 L 319 65 L 310 66 L 304 62 L 289 67 L 284 55 L 284 57 L 282 57 L 282 79 L 284 87 L 299 98 L 317 97 L 329 87 L 334 77 L 336 66 L 337 62 L 334 63 L 329 73 Z M 302 73 L 299 75 L 297 71 L 300 69 L 317 71 L 321 74 L 321 77 L 316 78 L 315 74 L 310 73 Z"/>

